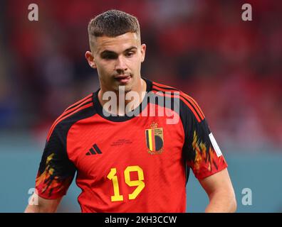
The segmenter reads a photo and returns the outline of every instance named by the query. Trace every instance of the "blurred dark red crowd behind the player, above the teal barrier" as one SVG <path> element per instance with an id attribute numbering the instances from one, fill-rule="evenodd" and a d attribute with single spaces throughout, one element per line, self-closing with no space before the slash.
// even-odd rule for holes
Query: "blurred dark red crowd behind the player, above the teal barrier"
<path id="1" fill-rule="evenodd" d="M 194 97 L 221 143 L 282 148 L 282 1 L 30 1 L 0 3 L 0 128 L 44 131 L 98 89 L 84 57 L 90 18 L 108 9 L 140 21 L 142 76 Z"/>

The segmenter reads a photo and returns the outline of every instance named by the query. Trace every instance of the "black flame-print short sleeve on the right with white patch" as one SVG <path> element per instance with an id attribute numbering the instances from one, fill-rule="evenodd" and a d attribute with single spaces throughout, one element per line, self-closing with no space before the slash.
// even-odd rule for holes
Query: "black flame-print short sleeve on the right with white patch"
<path id="1" fill-rule="evenodd" d="M 204 179 L 227 167 L 224 155 L 209 130 L 206 118 L 196 118 L 189 111 L 186 114 L 184 159 L 197 179 Z"/>

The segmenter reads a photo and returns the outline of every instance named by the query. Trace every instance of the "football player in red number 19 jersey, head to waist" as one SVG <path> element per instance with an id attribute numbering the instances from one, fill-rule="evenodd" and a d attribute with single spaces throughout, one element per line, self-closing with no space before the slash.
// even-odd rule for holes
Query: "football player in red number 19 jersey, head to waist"
<path id="1" fill-rule="evenodd" d="M 146 45 L 137 18 L 106 11 L 88 33 L 85 57 L 100 89 L 53 123 L 36 177 L 38 205 L 26 212 L 56 211 L 75 172 L 83 212 L 185 212 L 188 167 L 209 196 L 207 212 L 234 212 L 226 161 L 196 101 L 141 77 Z M 170 115 L 156 114 L 164 110 Z M 178 121 L 168 123 L 172 114 Z"/>

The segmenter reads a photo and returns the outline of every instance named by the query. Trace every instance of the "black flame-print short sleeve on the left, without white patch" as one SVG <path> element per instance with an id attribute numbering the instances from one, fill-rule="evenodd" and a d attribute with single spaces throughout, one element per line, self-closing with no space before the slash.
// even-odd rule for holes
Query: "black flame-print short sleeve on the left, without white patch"
<path id="1" fill-rule="evenodd" d="M 64 141 L 58 125 L 46 141 L 36 177 L 36 193 L 44 199 L 65 195 L 73 181 L 75 166 L 68 159 Z"/>

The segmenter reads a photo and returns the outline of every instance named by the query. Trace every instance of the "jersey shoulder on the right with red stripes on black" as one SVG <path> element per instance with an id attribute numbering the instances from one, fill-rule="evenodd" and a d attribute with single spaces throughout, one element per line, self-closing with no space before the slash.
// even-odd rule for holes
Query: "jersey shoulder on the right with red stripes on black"
<path id="1" fill-rule="evenodd" d="M 180 101 L 180 114 L 184 113 L 185 115 L 192 114 L 197 118 L 197 121 L 203 121 L 205 116 L 202 109 L 199 107 L 199 104 L 192 96 L 180 91 L 177 88 L 170 87 L 164 84 L 159 84 L 157 82 L 152 82 L 152 92 L 160 94 L 162 96 L 170 96 L 172 98 L 179 99 Z"/>

